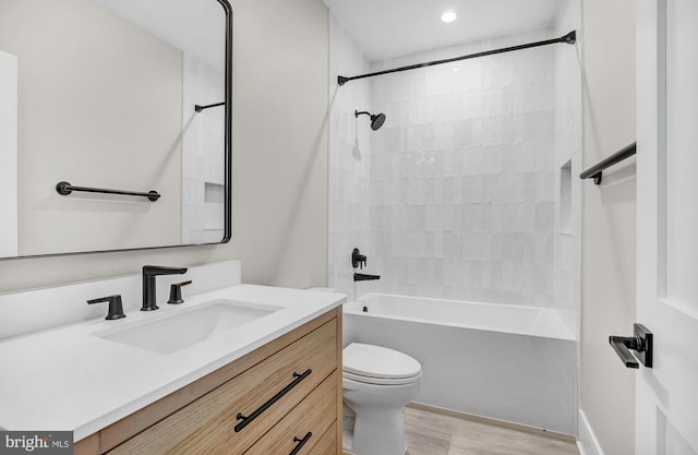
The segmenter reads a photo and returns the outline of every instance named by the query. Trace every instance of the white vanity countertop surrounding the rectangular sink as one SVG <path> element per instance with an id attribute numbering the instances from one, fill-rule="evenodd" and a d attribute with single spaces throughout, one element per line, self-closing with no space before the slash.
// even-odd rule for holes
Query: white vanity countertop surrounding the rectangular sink
<path id="1" fill-rule="evenodd" d="M 215 299 L 282 309 L 172 354 L 94 336 Z M 75 323 L 0 342 L 0 428 L 74 432 L 79 441 L 340 306 L 344 295 L 239 285 L 125 319 Z M 105 307 L 106 314 L 106 307 Z"/>

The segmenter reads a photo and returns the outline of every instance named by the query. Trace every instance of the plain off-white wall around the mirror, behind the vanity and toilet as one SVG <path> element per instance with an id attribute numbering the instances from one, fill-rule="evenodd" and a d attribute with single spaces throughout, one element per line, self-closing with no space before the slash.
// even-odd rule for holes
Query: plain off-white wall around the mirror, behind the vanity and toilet
<path id="1" fill-rule="evenodd" d="M 231 243 L 0 261 L 0 291 L 227 259 L 242 260 L 246 283 L 325 284 L 327 10 L 321 0 L 233 9 Z"/>

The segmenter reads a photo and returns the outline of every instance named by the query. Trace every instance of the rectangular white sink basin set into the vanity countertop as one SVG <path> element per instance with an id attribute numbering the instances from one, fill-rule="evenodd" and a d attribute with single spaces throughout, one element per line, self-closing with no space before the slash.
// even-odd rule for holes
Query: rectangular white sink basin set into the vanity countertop
<path id="1" fill-rule="evenodd" d="M 172 354 L 280 309 L 220 299 L 202 303 L 192 310 L 172 311 L 171 314 L 154 321 L 139 321 L 131 325 L 95 332 L 93 335 L 153 352 Z"/>

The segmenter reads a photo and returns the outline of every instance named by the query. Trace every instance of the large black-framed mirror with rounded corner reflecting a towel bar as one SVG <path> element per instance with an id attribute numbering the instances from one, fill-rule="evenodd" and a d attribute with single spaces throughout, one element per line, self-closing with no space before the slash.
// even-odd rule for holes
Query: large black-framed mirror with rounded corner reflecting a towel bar
<path id="1" fill-rule="evenodd" d="M 226 0 L 0 0 L 0 258 L 229 240 L 231 24 Z"/>

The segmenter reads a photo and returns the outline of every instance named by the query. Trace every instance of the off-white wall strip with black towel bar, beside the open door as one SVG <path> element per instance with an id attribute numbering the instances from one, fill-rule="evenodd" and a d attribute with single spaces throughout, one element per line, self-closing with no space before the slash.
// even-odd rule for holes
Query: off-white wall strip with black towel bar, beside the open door
<path id="1" fill-rule="evenodd" d="M 583 167 L 635 141 L 635 2 L 585 0 Z M 606 455 L 634 453 L 635 375 L 609 346 L 635 319 L 635 161 L 582 183 L 580 409 Z M 587 429 L 582 429 L 583 434 Z M 591 452 L 593 454 L 593 452 Z"/>

